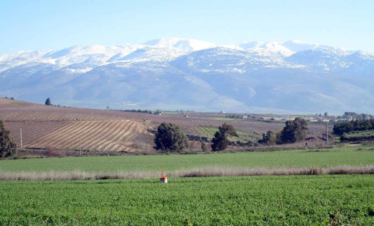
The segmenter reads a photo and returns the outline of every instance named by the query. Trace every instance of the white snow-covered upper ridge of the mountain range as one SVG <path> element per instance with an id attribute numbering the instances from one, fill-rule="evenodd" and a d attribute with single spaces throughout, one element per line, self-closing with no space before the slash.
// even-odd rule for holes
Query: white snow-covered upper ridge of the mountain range
<path id="1" fill-rule="evenodd" d="M 349 66 L 353 62 L 364 59 L 370 60 L 374 57 L 373 54 L 369 52 L 362 52 L 362 54 L 348 57 L 350 54 L 354 54 L 357 51 L 345 51 L 341 48 L 297 40 L 290 40 L 287 42 L 252 41 L 240 42 L 232 45 L 217 45 L 197 39 L 159 38 L 137 45 L 124 44 L 110 47 L 104 47 L 102 45 L 77 45 L 62 50 L 17 51 L 12 54 L 0 56 L 0 71 L 34 62 L 55 64 L 61 67 L 70 66 L 72 64 L 102 66 L 108 63 L 115 63 L 116 61 L 138 62 L 153 60 L 165 62 L 172 61 L 181 55 L 201 50 L 206 50 L 203 54 L 213 55 L 243 56 L 249 54 L 251 57 L 260 59 L 259 61 L 261 62 L 268 61 L 267 65 L 269 67 L 279 66 L 279 64 L 284 66 L 284 61 L 289 62 L 290 59 L 294 59 L 291 62 L 301 63 L 301 61 L 296 60 L 296 58 L 309 58 L 313 55 L 314 58 L 324 56 L 330 57 L 330 59 L 337 59 L 334 65 L 341 65 L 338 67 L 340 69 Z M 316 52 L 311 52 L 312 50 Z M 291 55 L 294 56 L 288 60 L 285 59 Z M 344 59 L 340 59 L 341 57 L 344 57 Z M 347 63 L 341 63 L 341 60 L 347 61 Z M 313 61 L 312 64 L 317 62 L 318 64 L 324 64 L 319 60 Z M 325 68 L 329 69 L 328 66 Z"/>

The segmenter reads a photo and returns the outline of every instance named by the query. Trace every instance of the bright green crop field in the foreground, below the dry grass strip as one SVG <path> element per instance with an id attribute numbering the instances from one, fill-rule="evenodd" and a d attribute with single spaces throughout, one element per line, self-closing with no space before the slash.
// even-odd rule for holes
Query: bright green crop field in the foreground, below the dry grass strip
<path id="1" fill-rule="evenodd" d="M 186 218 L 195 226 L 374 222 L 373 175 L 0 184 L 0 225 L 183 225 Z"/>

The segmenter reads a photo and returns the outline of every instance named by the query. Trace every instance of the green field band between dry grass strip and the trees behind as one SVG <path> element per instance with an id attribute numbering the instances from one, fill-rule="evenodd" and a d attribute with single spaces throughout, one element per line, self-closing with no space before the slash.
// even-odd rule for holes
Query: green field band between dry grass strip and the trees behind
<path id="1" fill-rule="evenodd" d="M 197 155 L 147 155 L 147 156 L 106 156 L 106 157 L 65 157 L 43 159 L 0 160 L 0 171 L 159 171 L 160 165 L 166 171 L 191 169 L 204 166 L 224 167 L 279 167 L 279 166 L 340 166 L 374 164 L 374 150 L 371 147 L 340 147 L 277 152 L 212 153 Z"/>

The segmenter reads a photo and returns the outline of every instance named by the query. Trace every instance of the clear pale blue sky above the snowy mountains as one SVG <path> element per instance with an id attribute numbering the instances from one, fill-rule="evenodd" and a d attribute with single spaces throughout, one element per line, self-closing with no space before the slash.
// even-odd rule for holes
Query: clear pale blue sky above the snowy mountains
<path id="1" fill-rule="evenodd" d="M 0 1 L 0 55 L 163 37 L 215 44 L 293 39 L 374 52 L 374 1 Z"/>

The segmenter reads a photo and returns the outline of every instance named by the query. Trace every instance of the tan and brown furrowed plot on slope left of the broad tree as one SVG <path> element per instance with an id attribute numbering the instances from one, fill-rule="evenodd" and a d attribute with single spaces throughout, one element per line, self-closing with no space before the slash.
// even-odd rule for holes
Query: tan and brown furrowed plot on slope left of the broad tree
<path id="1" fill-rule="evenodd" d="M 145 127 L 133 120 L 21 121 L 8 122 L 7 125 L 23 128 L 22 143 L 26 148 L 52 146 L 57 149 L 132 152 L 133 141 L 147 136 Z M 20 143 L 20 137 L 15 140 Z"/>

